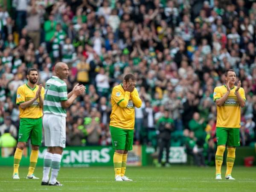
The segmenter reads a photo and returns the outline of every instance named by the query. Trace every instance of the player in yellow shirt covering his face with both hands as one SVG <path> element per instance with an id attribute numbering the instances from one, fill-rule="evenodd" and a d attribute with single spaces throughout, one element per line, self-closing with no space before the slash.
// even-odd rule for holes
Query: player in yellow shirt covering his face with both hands
<path id="1" fill-rule="evenodd" d="M 113 88 L 111 94 L 110 132 L 115 149 L 113 163 L 116 181 L 131 181 L 125 176 L 126 161 L 133 144 L 135 107 L 140 108 L 142 104 L 135 86 L 136 79 L 129 73 L 122 84 Z"/>

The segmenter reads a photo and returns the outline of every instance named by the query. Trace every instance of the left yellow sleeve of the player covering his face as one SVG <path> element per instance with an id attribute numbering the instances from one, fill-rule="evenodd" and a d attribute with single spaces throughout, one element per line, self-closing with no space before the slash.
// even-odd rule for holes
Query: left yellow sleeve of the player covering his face
<path id="1" fill-rule="evenodd" d="M 112 91 L 112 99 L 116 102 L 116 105 L 120 106 L 121 108 L 125 108 L 130 99 L 130 92 L 125 91 L 123 94 L 118 87 L 114 87 Z"/>

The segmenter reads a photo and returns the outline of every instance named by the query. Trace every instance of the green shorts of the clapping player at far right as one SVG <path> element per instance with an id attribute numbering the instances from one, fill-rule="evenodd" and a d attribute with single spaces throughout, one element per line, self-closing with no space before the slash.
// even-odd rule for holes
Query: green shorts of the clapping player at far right
<path id="1" fill-rule="evenodd" d="M 239 128 L 216 128 L 217 145 L 240 146 Z"/>

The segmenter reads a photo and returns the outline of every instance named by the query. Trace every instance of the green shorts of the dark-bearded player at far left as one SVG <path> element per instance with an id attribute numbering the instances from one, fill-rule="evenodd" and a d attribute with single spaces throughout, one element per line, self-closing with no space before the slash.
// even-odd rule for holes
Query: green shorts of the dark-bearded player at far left
<path id="1" fill-rule="evenodd" d="M 28 142 L 32 145 L 41 145 L 42 141 L 42 117 L 38 119 L 20 118 L 19 142 Z"/>

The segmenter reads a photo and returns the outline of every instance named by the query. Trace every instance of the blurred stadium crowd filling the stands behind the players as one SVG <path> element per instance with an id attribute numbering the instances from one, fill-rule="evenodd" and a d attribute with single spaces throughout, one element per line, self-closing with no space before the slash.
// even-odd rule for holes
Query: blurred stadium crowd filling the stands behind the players
<path id="1" fill-rule="evenodd" d="M 215 155 L 213 89 L 232 68 L 246 93 L 241 145 L 256 142 L 256 3 L 252 0 L 1 0 L 0 135 L 17 139 L 17 87 L 29 67 L 40 83 L 67 63 L 69 90 L 86 94 L 67 110 L 67 145 L 110 145 L 111 88 L 134 73 L 143 106 L 135 144 L 157 147 L 159 120 L 173 119 L 171 145 Z M 15 143 L 15 140 L 12 140 Z M 1 145 L 1 143 L 0 143 Z M 15 145 L 15 144 L 14 144 Z M 3 143 L 2 143 L 2 146 Z M 200 162 L 200 161 L 198 161 Z"/>

